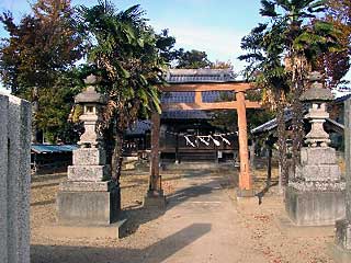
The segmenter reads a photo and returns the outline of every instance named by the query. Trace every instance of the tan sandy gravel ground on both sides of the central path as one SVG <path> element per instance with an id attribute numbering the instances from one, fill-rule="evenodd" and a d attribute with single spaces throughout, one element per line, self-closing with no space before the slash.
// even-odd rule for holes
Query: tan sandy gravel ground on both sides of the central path
<path id="1" fill-rule="evenodd" d="M 233 199 L 234 208 L 238 211 L 238 224 L 249 232 L 242 242 L 248 245 L 248 253 L 261 254 L 261 262 L 272 263 L 331 263 L 327 254 L 327 245 L 332 242 L 332 228 L 302 229 L 284 222 L 285 211 L 282 196 L 276 195 L 273 187 L 258 205 L 257 198 L 235 198 L 234 184 L 236 173 L 223 173 L 227 176 L 224 191 Z M 264 186 L 264 173 L 257 172 L 256 187 Z M 174 172 L 162 176 L 163 188 L 171 195 L 180 184 L 184 173 Z M 276 173 L 273 173 L 276 176 Z M 32 263 L 127 263 L 139 262 L 140 253 L 147 259 L 147 248 L 159 243 L 161 238 L 157 229 L 162 224 L 162 213 L 146 210 L 141 202 L 147 190 L 147 173 L 139 175 L 124 175 L 121 179 L 122 207 L 128 215 L 128 230 L 121 240 L 77 240 L 53 239 L 44 233 L 41 226 L 53 225 L 56 216 L 56 194 L 58 184 L 66 180 L 66 174 L 34 175 L 31 193 L 31 253 Z M 273 176 L 273 181 L 276 178 Z M 241 235 L 242 236 L 242 235 Z M 234 237 L 235 238 L 235 237 Z M 143 261 L 148 262 L 148 261 Z M 210 262 L 210 261 L 208 261 Z M 211 261 L 213 262 L 213 261 Z M 233 262 L 236 261 L 234 259 Z M 251 263 L 251 262 L 249 262 Z"/>

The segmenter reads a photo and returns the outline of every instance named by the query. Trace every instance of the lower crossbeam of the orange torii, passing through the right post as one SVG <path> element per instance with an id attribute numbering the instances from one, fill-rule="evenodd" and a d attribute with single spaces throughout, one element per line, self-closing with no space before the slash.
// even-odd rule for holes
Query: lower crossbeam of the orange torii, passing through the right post
<path id="1" fill-rule="evenodd" d="M 246 108 L 260 108 L 259 102 L 245 101 Z M 181 110 L 181 111 L 212 111 L 212 110 L 237 110 L 238 102 L 201 102 L 201 103 L 162 103 L 162 111 Z"/>

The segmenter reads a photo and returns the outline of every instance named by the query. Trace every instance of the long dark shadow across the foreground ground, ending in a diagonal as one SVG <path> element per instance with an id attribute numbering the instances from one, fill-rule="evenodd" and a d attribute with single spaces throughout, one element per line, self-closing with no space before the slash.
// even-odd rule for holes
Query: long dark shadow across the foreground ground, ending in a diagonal
<path id="1" fill-rule="evenodd" d="M 161 263 L 211 231 L 211 224 L 193 224 L 145 249 L 42 245 L 31 247 L 32 263 Z"/>

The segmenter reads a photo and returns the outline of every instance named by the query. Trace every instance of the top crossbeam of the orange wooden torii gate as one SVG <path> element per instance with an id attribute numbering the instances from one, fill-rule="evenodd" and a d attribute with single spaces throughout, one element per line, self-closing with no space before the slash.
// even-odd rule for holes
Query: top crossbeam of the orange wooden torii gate
<path id="1" fill-rule="evenodd" d="M 189 92 L 189 91 L 247 91 L 254 89 L 248 82 L 225 82 L 225 83 L 181 83 L 159 87 L 163 92 Z"/>

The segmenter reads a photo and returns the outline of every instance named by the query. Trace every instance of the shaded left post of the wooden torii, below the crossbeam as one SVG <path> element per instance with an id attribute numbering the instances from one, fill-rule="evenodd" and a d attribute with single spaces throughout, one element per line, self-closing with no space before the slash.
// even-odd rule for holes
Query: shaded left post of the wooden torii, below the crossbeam
<path id="1" fill-rule="evenodd" d="M 160 115 L 151 115 L 151 159 L 150 159 L 150 178 L 149 188 L 144 199 L 144 206 L 165 207 L 166 197 L 162 190 L 162 181 L 159 174 L 159 137 L 160 137 Z"/>

